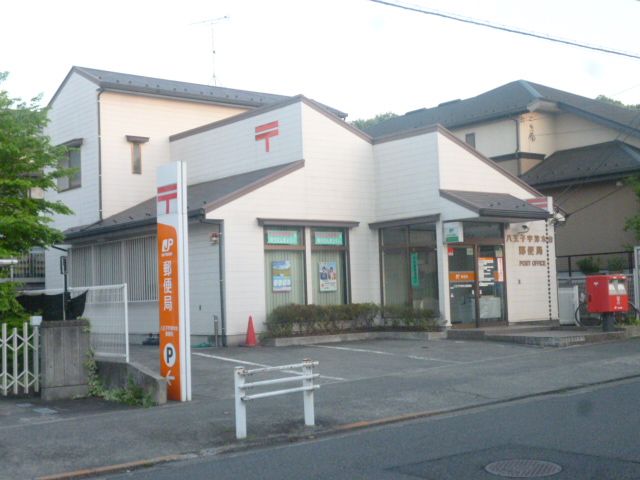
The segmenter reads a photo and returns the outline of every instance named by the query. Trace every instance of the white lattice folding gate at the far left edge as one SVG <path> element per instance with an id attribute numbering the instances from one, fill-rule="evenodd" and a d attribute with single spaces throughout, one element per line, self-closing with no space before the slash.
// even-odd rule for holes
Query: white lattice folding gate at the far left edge
<path id="1" fill-rule="evenodd" d="M 3 323 L 0 329 L 0 350 L 2 358 L 0 364 L 0 393 L 18 395 L 28 394 L 29 388 L 40 390 L 40 332 L 33 327 L 29 333 L 29 325 L 25 323 L 22 329 L 8 329 Z"/>

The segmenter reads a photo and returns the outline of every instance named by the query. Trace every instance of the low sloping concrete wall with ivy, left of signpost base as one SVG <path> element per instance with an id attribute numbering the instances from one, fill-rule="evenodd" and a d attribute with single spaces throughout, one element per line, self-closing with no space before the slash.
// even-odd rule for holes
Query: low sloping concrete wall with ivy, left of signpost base
<path id="1" fill-rule="evenodd" d="M 151 396 L 156 405 L 167 403 L 167 381 L 159 374 L 135 362 L 124 363 L 96 359 L 98 375 L 108 389 L 126 388 L 129 377 Z"/>

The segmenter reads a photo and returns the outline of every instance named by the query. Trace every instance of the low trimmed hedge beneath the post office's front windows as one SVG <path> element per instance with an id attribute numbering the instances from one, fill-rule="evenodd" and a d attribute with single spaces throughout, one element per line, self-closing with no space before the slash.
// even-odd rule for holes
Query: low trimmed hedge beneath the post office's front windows
<path id="1" fill-rule="evenodd" d="M 376 321 L 380 319 L 379 321 Z M 410 306 L 381 309 L 374 303 L 276 307 L 266 322 L 267 336 L 292 337 L 373 330 L 436 330 L 430 310 Z"/>

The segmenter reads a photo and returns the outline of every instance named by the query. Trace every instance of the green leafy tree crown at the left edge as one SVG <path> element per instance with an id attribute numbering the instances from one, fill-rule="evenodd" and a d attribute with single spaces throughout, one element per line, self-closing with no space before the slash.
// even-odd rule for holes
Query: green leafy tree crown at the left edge
<path id="1" fill-rule="evenodd" d="M 6 77 L 0 72 L 0 84 Z M 66 149 L 44 134 L 47 110 L 38 100 L 11 98 L 0 88 L 0 258 L 61 242 L 51 216 L 71 213 L 61 202 L 31 195 L 33 189 L 56 188 L 56 179 L 71 173 L 58 169 Z"/>

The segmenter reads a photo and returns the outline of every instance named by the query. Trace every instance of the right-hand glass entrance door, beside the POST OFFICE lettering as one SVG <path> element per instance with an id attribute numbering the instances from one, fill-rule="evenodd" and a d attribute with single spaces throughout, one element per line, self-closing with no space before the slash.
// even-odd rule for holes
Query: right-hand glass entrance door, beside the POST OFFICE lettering
<path id="1" fill-rule="evenodd" d="M 478 246 L 479 323 L 505 320 L 504 249 L 501 245 Z"/>

